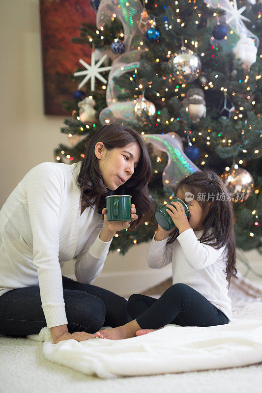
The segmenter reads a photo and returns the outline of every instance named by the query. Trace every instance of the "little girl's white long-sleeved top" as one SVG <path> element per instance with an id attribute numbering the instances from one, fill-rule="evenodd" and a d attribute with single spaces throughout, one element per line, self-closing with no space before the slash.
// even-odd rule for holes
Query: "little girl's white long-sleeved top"
<path id="1" fill-rule="evenodd" d="M 157 242 L 154 237 L 147 252 L 147 264 L 159 269 L 172 262 L 173 284 L 184 283 L 201 293 L 232 320 L 231 299 L 226 279 L 225 247 L 216 250 L 198 240 L 202 231 L 185 230 L 176 240 Z"/>

